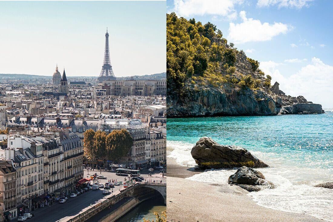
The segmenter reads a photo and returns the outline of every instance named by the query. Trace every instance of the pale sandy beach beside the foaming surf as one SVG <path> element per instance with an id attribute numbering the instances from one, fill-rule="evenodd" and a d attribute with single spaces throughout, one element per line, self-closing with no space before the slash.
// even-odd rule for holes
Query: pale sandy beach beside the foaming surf
<path id="1" fill-rule="evenodd" d="M 196 173 L 168 158 L 167 220 L 169 222 L 317 222 L 312 216 L 257 205 L 238 186 L 184 179 Z"/>

